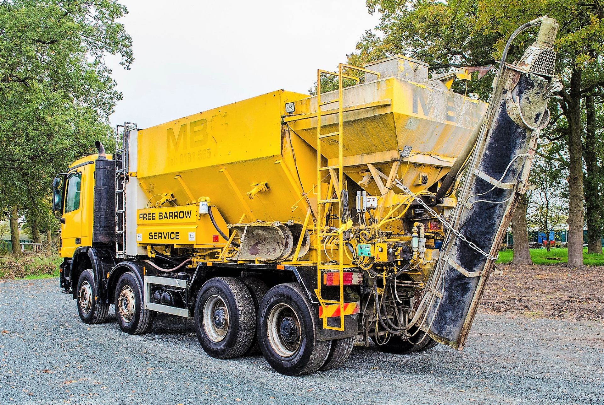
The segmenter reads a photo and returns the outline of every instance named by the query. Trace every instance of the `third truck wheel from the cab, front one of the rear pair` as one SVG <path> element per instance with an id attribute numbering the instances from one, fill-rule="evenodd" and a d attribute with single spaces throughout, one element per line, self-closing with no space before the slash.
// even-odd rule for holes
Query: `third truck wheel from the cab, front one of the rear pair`
<path id="1" fill-rule="evenodd" d="M 195 303 L 195 332 L 216 359 L 243 356 L 252 345 L 256 312 L 248 287 L 233 277 L 206 281 Z"/>

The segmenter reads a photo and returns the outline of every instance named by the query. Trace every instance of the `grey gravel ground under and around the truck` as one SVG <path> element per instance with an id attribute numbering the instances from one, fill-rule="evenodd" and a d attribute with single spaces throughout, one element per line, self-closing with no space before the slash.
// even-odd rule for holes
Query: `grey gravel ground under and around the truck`
<path id="1" fill-rule="evenodd" d="M 604 404 L 604 323 L 480 312 L 462 353 L 356 348 L 341 368 L 277 374 L 207 356 L 186 319 L 143 336 L 85 325 L 56 279 L 0 280 L 0 404 Z"/>

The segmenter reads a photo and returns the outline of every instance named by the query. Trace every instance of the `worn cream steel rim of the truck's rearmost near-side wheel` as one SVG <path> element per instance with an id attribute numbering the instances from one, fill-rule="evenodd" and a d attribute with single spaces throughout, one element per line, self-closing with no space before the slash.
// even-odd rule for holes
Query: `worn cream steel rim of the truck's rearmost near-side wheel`
<path id="1" fill-rule="evenodd" d="M 297 333 L 290 336 L 284 334 L 287 327 L 297 328 Z M 291 306 L 279 303 L 269 312 L 266 334 L 275 353 L 281 357 L 291 357 L 298 351 L 302 342 L 300 318 Z"/>

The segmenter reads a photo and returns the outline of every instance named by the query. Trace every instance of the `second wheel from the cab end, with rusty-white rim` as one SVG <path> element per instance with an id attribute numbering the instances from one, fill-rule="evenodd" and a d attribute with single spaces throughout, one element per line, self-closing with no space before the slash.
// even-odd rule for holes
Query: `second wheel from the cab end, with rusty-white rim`
<path id="1" fill-rule="evenodd" d="M 125 272 L 115 287 L 115 318 L 121 330 L 129 334 L 146 333 L 153 324 L 155 312 L 145 309 L 143 290 L 137 276 Z"/>

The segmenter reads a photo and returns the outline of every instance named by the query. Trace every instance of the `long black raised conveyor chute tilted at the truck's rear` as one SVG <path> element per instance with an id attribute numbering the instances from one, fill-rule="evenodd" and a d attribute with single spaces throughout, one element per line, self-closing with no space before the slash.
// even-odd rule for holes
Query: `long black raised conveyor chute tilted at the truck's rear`
<path id="1" fill-rule="evenodd" d="M 517 63 L 506 64 L 512 40 L 535 25 L 541 25 L 535 43 Z M 446 236 L 430 281 L 428 294 L 433 295 L 423 328 L 458 350 L 466 342 L 518 198 L 527 190 L 539 130 L 550 119 L 548 98 L 561 89 L 554 77 L 557 30 L 556 20 L 539 17 L 519 27 L 507 42 L 486 124 L 455 209 L 452 226 L 458 233 L 449 231 Z"/>

